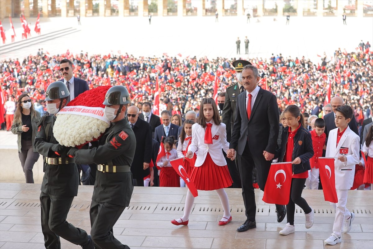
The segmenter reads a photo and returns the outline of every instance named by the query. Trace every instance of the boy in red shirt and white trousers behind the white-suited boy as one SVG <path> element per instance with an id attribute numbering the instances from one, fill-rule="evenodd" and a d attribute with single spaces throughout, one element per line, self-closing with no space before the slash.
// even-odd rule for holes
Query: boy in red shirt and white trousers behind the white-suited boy
<path id="1" fill-rule="evenodd" d="M 312 138 L 313 157 L 310 159 L 311 172 L 308 172 L 311 189 L 319 189 L 319 157 L 323 154 L 323 149 L 326 149 L 325 139 L 326 134 L 325 121 L 322 118 L 317 118 L 314 123 L 314 129 L 310 131 Z"/>

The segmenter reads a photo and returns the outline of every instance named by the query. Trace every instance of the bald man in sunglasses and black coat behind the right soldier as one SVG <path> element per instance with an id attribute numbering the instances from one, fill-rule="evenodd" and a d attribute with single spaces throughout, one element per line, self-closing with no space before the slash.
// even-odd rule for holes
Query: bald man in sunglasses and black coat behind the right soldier
<path id="1" fill-rule="evenodd" d="M 131 172 L 134 186 L 144 186 L 144 177 L 150 174 L 149 164 L 152 155 L 151 127 L 139 119 L 139 109 L 137 106 L 130 106 L 127 111 L 129 125 L 135 133 L 136 150 L 134 160 L 131 164 Z"/>

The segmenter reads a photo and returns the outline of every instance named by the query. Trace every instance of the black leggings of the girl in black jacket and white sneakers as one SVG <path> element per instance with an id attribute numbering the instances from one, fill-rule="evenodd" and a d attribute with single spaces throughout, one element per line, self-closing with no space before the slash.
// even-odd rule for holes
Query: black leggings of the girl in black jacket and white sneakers
<path id="1" fill-rule="evenodd" d="M 294 225 L 295 204 L 300 206 L 305 214 L 309 214 L 312 211 L 310 206 L 308 206 L 308 203 L 302 197 L 304 183 L 305 178 L 291 179 L 290 198 L 289 203 L 286 205 L 286 219 L 290 225 Z"/>

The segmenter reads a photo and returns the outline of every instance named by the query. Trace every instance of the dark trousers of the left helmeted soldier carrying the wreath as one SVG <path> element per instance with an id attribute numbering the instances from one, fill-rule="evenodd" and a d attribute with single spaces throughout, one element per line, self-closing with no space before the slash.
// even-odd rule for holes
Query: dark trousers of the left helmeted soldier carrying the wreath
<path id="1" fill-rule="evenodd" d="M 41 192 L 41 230 L 48 249 L 60 249 L 60 237 L 75 245 L 88 242 L 86 231 L 66 221 L 74 196 L 57 196 Z"/>

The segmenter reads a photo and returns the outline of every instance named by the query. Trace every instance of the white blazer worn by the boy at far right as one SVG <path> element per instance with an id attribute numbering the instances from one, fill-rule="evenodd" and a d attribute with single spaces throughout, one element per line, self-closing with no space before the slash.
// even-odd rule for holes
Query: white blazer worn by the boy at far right
<path id="1" fill-rule="evenodd" d="M 337 127 L 329 132 L 325 156 L 338 158 L 341 156 L 340 150 L 343 150 L 341 147 L 348 148 L 348 152 L 345 153 L 347 154 L 345 155 L 347 157 L 346 162 L 341 162 L 338 159 L 334 160 L 335 188 L 348 190 L 354 183 L 355 165 L 359 163 L 360 137 L 347 126 L 338 146 L 336 146 L 338 129 Z"/>

